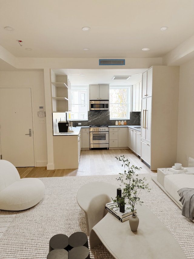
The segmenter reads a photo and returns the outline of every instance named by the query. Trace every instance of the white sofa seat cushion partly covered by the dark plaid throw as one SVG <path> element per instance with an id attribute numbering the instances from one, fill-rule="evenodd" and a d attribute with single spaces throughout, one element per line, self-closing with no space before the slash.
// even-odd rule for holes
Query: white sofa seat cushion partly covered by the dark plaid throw
<path id="1" fill-rule="evenodd" d="M 181 188 L 194 188 L 193 174 L 174 174 L 164 177 L 164 188 L 182 206 L 179 201 L 180 196 L 177 191 Z"/>

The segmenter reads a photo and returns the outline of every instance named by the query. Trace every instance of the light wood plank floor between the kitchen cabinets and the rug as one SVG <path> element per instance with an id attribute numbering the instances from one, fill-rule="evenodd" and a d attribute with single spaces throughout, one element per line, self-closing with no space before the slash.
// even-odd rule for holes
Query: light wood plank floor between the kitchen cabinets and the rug
<path id="1" fill-rule="evenodd" d="M 47 170 L 46 167 L 18 167 L 17 169 L 21 178 L 114 175 L 124 171 L 121 162 L 115 158 L 119 155 L 125 155 L 131 165 L 142 167 L 138 171 L 139 174 L 153 172 L 129 149 L 81 150 L 78 169 Z"/>

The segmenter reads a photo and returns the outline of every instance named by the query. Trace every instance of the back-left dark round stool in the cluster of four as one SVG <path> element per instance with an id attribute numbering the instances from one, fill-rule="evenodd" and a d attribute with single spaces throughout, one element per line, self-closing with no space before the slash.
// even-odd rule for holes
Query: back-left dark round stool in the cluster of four
<path id="1" fill-rule="evenodd" d="M 49 252 L 53 249 L 65 249 L 69 251 L 69 237 L 64 234 L 57 234 L 49 241 Z"/>

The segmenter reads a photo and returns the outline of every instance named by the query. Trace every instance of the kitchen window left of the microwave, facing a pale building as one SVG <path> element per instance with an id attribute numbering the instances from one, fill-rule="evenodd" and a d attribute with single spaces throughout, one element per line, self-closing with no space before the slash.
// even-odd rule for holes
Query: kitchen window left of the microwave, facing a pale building
<path id="1" fill-rule="evenodd" d="M 88 120 L 88 89 L 87 87 L 71 87 L 72 100 L 72 121 L 87 121 Z"/>

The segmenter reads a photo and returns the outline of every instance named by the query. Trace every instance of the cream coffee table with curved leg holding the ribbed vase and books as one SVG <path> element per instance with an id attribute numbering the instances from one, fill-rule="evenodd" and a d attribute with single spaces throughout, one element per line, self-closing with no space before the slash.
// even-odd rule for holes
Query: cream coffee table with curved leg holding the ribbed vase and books
<path id="1" fill-rule="evenodd" d="M 146 206 L 137 205 L 139 227 L 132 232 L 129 220 L 107 215 L 90 231 L 90 248 L 102 243 L 117 259 L 182 259 L 181 247 L 163 223 Z"/>

